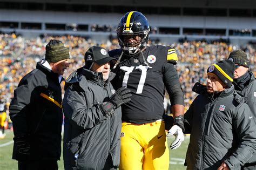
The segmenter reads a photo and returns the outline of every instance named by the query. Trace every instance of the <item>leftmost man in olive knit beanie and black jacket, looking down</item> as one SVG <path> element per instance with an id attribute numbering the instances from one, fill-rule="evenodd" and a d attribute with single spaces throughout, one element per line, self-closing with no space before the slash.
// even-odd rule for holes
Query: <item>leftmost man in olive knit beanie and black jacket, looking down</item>
<path id="1" fill-rule="evenodd" d="M 14 91 L 9 111 L 19 169 L 58 169 L 61 153 L 62 89 L 69 49 L 59 40 L 46 45 L 45 59 L 26 74 Z"/>

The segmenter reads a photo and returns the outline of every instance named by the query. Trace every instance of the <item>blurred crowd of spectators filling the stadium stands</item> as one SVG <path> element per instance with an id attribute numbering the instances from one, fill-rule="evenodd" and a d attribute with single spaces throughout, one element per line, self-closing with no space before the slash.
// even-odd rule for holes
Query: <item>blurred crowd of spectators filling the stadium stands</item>
<path id="1" fill-rule="evenodd" d="M 70 73 L 84 65 L 84 53 L 92 45 L 99 45 L 107 50 L 119 47 L 117 39 L 109 39 L 104 43 L 98 43 L 90 38 L 69 35 L 41 36 L 28 39 L 17 36 L 15 33 L 0 34 L 0 99 L 7 105 L 10 104 L 19 80 L 35 68 L 36 62 L 44 58 L 45 45 L 53 38 L 61 40 L 70 49 L 70 67 L 64 73 L 65 78 L 68 78 Z M 154 43 L 150 41 L 149 45 Z M 207 67 L 227 58 L 231 51 L 244 50 L 250 58 L 254 73 L 256 71 L 256 52 L 250 44 L 239 46 L 224 42 L 207 43 L 198 40 L 169 45 L 172 45 L 178 53 L 179 62 L 176 68 L 184 91 L 186 108 L 197 95 L 192 92 L 194 83 L 199 81 L 205 84 Z"/>

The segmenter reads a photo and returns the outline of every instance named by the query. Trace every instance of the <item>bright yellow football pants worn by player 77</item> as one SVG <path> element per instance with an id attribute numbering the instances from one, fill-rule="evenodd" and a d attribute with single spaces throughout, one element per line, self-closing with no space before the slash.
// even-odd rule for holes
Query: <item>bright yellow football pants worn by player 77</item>
<path id="1" fill-rule="evenodd" d="M 119 169 L 169 169 L 164 121 L 147 124 L 122 123 Z"/>

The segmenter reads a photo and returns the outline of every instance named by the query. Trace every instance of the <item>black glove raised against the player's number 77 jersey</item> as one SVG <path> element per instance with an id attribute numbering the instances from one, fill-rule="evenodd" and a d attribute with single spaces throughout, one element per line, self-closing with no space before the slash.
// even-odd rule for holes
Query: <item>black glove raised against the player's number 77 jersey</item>
<path id="1" fill-rule="evenodd" d="M 130 92 L 131 92 L 131 90 L 126 89 L 125 86 L 120 87 L 116 91 L 116 93 L 114 93 L 110 97 L 109 101 L 106 101 L 100 105 L 100 108 L 102 108 L 104 115 L 105 114 L 108 114 L 108 115 L 113 114 L 114 110 L 116 110 L 116 108 L 131 101 L 132 94 Z"/>

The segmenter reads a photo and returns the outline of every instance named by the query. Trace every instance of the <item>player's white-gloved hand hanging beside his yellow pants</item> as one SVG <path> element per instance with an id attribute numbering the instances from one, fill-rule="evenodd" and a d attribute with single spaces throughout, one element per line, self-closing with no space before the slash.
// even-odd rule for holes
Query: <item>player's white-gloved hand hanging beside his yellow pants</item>
<path id="1" fill-rule="evenodd" d="M 173 140 L 170 148 L 177 149 L 181 145 L 181 142 L 184 141 L 183 131 L 178 125 L 173 125 L 171 129 L 168 131 L 166 137 L 171 137 L 172 135 L 175 136 L 175 139 Z"/>

